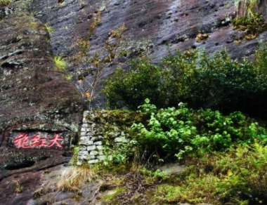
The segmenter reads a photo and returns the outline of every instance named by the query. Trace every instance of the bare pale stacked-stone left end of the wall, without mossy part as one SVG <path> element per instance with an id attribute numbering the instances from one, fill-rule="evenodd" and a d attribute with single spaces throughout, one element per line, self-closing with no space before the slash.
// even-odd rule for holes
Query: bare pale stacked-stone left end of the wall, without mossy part
<path id="1" fill-rule="evenodd" d="M 89 111 L 84 112 L 79 140 L 78 165 L 82 165 L 83 162 L 96 164 L 104 159 L 103 136 L 96 127 L 96 123 L 87 119 L 89 114 Z"/>

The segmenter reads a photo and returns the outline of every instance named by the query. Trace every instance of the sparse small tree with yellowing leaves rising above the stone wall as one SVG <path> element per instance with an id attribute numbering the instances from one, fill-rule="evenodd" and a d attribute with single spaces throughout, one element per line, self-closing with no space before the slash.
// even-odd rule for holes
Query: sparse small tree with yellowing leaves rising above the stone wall
<path id="1" fill-rule="evenodd" d="M 79 79 L 82 80 L 89 76 L 93 77 L 89 88 L 84 89 L 83 95 L 88 99 L 89 107 L 94 98 L 96 98 L 96 88 L 100 83 L 103 69 L 109 67 L 112 62 L 119 56 L 120 46 L 123 41 L 123 33 L 126 30 L 125 25 L 121 25 L 116 29 L 109 32 L 107 39 L 105 39 L 103 48 L 100 51 L 91 52 L 91 38 L 96 34 L 96 29 L 101 22 L 101 11 L 98 11 L 93 18 L 90 27 L 89 34 L 84 39 L 77 41 L 78 53 L 75 56 L 83 59 L 86 65 L 89 65 L 82 74 L 79 75 Z"/>

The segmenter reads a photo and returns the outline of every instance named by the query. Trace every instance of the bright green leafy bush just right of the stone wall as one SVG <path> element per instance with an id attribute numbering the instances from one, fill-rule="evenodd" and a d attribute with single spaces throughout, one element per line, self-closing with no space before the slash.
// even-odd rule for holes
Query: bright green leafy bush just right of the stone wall
<path id="1" fill-rule="evenodd" d="M 266 129 L 249 121 L 241 112 L 223 116 L 219 111 L 190 110 L 180 103 L 155 112 L 146 100 L 141 111 L 148 114 L 147 124 L 133 124 L 139 152 L 157 159 L 183 159 L 188 154 L 226 150 L 232 145 L 267 142 Z"/>

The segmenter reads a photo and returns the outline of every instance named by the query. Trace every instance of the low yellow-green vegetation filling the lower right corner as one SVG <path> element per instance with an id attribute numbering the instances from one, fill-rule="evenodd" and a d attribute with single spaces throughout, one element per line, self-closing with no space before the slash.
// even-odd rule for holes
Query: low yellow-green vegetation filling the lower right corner
<path id="1" fill-rule="evenodd" d="M 152 201 L 266 204 L 266 146 L 240 145 L 229 152 L 212 155 L 195 162 L 177 185 L 157 186 Z"/>

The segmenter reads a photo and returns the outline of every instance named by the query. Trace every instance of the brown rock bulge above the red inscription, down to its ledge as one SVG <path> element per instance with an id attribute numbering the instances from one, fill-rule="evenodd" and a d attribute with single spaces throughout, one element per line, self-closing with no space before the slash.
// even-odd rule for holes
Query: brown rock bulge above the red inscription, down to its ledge
<path id="1" fill-rule="evenodd" d="M 0 143 L 13 131 L 77 132 L 82 99 L 55 71 L 44 25 L 14 13 L 0 22 L 0 36 Z"/>

